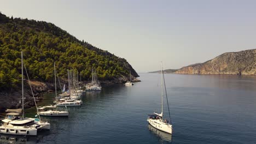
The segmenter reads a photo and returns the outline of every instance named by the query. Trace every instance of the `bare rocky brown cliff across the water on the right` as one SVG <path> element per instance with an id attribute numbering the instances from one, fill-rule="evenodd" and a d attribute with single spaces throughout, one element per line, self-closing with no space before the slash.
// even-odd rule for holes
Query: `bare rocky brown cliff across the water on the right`
<path id="1" fill-rule="evenodd" d="M 256 49 L 226 52 L 205 63 L 183 67 L 175 73 L 256 75 Z"/>

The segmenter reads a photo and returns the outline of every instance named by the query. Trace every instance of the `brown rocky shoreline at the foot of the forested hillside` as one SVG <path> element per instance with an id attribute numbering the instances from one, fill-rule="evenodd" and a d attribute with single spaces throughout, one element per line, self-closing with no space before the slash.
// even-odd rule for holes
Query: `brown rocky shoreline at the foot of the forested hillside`
<path id="1" fill-rule="evenodd" d="M 133 82 L 139 82 L 140 80 L 136 79 L 136 77 L 132 77 Z M 101 81 L 101 85 L 113 85 L 114 83 L 124 83 L 128 79 L 127 77 L 120 77 L 119 79 L 114 80 L 105 80 Z M 83 83 L 88 83 L 90 81 L 83 81 Z M 66 82 L 65 82 L 66 83 Z M 39 81 L 31 81 L 31 86 L 33 89 L 33 94 L 36 99 L 36 102 L 43 100 L 43 94 L 48 92 L 49 90 L 54 89 L 54 83 L 47 83 L 47 82 L 39 82 Z M 33 107 L 34 99 L 31 93 L 30 86 L 27 82 L 25 82 L 24 86 L 24 97 L 25 109 Z M 20 89 L 11 89 L 10 91 L 0 92 L 0 111 L 5 111 L 6 109 L 18 109 L 21 107 L 20 99 L 21 98 L 21 90 Z"/>

